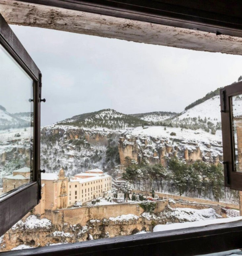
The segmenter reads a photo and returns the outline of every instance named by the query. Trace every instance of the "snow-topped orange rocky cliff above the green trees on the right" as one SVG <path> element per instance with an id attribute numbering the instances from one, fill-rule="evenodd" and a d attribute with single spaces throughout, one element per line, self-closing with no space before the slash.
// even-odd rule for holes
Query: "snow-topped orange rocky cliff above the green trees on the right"
<path id="1" fill-rule="evenodd" d="M 174 156 L 187 162 L 202 160 L 217 164 L 223 160 L 219 137 L 203 130 L 194 132 L 161 126 L 136 128 L 125 133 L 119 138 L 119 156 L 121 165 L 127 164 L 127 157 L 138 163 L 145 160 L 162 165 L 165 165 L 166 157 Z"/>

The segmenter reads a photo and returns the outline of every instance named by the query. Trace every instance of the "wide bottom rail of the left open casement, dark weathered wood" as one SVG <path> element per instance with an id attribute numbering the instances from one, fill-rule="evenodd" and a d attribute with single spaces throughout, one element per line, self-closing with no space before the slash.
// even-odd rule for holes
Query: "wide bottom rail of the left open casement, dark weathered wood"
<path id="1" fill-rule="evenodd" d="M 37 182 L 31 182 L 0 199 L 1 235 L 37 205 L 37 192 Z"/>

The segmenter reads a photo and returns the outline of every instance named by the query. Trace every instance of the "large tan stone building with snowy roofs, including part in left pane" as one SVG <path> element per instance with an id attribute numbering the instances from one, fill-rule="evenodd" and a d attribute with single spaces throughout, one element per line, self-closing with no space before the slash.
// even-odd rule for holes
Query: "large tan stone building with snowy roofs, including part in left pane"
<path id="1" fill-rule="evenodd" d="M 3 177 L 3 193 L 30 181 L 30 168 L 21 168 Z M 41 173 L 41 200 L 34 214 L 42 215 L 46 210 L 55 211 L 72 207 L 77 202 L 87 202 L 112 189 L 112 177 L 100 169 L 87 170 L 73 177 L 66 177 L 64 170 L 59 174 Z"/>

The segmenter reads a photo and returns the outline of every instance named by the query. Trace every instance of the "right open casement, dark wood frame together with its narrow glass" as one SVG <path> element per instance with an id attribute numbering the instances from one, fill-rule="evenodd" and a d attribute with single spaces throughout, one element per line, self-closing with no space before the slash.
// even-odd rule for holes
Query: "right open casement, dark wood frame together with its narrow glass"
<path id="1" fill-rule="evenodd" d="M 224 182 L 242 190 L 242 82 L 220 89 Z"/>

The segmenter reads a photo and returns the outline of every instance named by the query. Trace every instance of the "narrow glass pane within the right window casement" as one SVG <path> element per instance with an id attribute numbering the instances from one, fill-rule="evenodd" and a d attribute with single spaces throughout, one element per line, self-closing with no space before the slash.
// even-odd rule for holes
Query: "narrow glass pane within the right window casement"
<path id="1" fill-rule="evenodd" d="M 242 172 L 242 95 L 231 97 L 233 121 L 234 170 Z"/>

